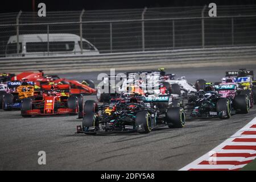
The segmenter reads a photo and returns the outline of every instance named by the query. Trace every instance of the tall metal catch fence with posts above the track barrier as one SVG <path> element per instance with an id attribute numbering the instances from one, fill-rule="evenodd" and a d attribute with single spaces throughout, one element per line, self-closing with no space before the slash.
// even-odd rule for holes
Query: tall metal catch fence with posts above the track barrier
<path id="1" fill-rule="evenodd" d="M 23 34 L 76 34 L 100 53 L 256 44 L 256 5 L 217 6 L 214 18 L 208 16 L 208 10 L 196 6 L 47 12 L 46 17 L 21 11 L 0 14 L 0 56 L 5 56 L 10 36 Z M 80 41 L 76 44 L 83 47 Z M 51 44 L 45 46 L 44 55 L 49 55 Z M 72 51 L 72 47 L 59 51 L 84 53 Z M 10 52 L 18 53 L 22 48 L 18 43 L 9 47 Z M 42 51 L 42 47 L 35 44 L 33 50 Z"/>

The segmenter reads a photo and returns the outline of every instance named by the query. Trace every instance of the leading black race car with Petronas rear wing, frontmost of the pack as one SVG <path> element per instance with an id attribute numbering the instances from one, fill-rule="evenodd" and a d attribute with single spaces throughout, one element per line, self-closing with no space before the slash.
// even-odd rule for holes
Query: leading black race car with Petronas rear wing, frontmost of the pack
<path id="1" fill-rule="evenodd" d="M 169 96 L 144 97 L 129 94 L 123 94 L 120 98 L 110 100 L 109 104 L 100 106 L 95 101 L 88 100 L 84 106 L 82 126 L 77 126 L 77 133 L 149 133 L 160 126 L 183 127 L 184 110 L 181 107 L 170 107 L 168 102 Z"/>

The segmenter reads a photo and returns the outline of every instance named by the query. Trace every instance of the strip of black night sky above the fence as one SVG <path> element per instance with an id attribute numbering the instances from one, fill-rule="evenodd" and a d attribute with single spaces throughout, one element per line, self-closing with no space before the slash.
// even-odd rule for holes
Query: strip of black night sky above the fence
<path id="1" fill-rule="evenodd" d="M 33 0 L 1 1 L 0 13 L 32 11 Z M 253 5 L 256 0 L 34 0 L 35 11 L 40 2 L 46 3 L 48 11 L 72 11 L 72 10 L 108 10 L 108 9 L 136 9 L 147 7 L 173 7 L 173 6 L 203 6 L 211 2 L 217 5 Z"/>

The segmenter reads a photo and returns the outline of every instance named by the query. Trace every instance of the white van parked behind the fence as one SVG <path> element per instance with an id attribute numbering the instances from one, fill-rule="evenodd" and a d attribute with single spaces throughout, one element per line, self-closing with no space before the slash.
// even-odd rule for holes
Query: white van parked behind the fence
<path id="1" fill-rule="evenodd" d="M 48 43 L 49 40 L 49 43 Z M 97 55 L 98 49 L 88 40 L 82 39 L 82 55 Z M 75 34 L 24 34 L 10 36 L 6 45 L 6 57 L 81 55 L 80 36 Z"/>

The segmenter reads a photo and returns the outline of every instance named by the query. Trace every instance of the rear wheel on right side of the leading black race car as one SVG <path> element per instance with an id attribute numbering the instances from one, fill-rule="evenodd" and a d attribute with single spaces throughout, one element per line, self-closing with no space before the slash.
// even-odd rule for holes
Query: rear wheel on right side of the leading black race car
<path id="1" fill-rule="evenodd" d="M 181 107 L 171 107 L 166 113 L 166 122 L 170 128 L 181 128 L 185 126 L 185 112 Z"/>

